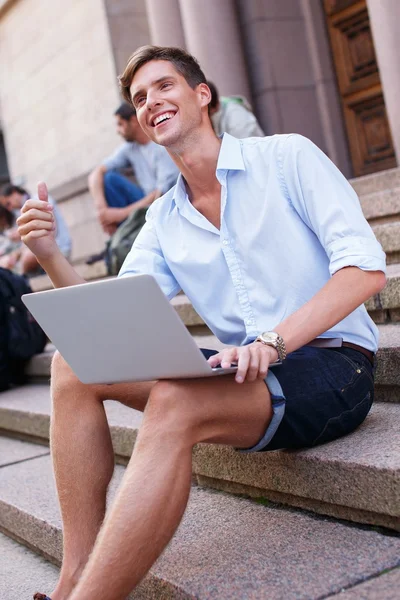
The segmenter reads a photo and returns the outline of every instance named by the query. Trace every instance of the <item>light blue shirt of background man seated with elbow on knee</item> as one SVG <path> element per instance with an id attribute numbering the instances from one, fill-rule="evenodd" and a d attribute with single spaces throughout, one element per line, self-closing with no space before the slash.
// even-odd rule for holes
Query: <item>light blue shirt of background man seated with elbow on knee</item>
<path id="1" fill-rule="evenodd" d="M 176 183 L 179 171 L 163 146 L 154 142 L 126 142 L 103 162 L 108 171 L 132 167 L 145 196 L 160 190 L 165 194 Z"/>

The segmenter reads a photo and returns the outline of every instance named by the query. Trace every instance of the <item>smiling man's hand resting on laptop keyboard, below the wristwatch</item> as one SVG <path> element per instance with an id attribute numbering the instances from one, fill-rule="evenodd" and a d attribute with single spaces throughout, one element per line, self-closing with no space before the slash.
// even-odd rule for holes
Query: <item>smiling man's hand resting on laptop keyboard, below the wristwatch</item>
<path id="1" fill-rule="evenodd" d="M 229 369 L 232 363 L 238 365 L 235 380 L 237 383 L 265 379 L 269 365 L 278 360 L 278 352 L 272 346 L 260 342 L 253 342 L 247 346 L 226 348 L 210 356 L 208 363 L 211 367 L 219 364 L 223 369 Z"/>

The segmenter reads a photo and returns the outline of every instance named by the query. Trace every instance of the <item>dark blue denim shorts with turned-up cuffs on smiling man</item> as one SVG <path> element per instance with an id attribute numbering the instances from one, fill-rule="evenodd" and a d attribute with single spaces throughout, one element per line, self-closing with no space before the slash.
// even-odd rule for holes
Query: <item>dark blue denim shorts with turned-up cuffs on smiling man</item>
<path id="1" fill-rule="evenodd" d="M 241 452 L 309 448 L 354 431 L 374 398 L 374 368 L 351 348 L 304 346 L 270 368 L 265 379 L 273 416 L 252 448 Z"/>

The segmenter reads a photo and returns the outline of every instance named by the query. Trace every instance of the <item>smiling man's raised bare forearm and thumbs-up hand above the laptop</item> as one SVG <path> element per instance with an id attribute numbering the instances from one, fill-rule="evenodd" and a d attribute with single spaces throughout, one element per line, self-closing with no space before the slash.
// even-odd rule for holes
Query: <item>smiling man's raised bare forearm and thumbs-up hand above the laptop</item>
<path id="1" fill-rule="evenodd" d="M 45 183 L 38 185 L 37 200 L 29 199 L 25 202 L 17 224 L 22 241 L 36 256 L 54 287 L 85 283 L 85 280 L 69 264 L 56 244 L 53 207 L 48 202 Z"/>

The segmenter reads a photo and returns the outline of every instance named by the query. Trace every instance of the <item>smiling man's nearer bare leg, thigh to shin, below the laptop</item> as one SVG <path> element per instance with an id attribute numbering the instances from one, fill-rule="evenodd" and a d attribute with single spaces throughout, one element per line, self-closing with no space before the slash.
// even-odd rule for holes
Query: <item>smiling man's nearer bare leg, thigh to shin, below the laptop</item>
<path id="1" fill-rule="evenodd" d="M 229 376 L 156 383 L 121 489 L 69 600 L 126 598 L 179 525 L 194 444 L 250 447 L 271 416 L 262 380 L 238 385 Z"/>

